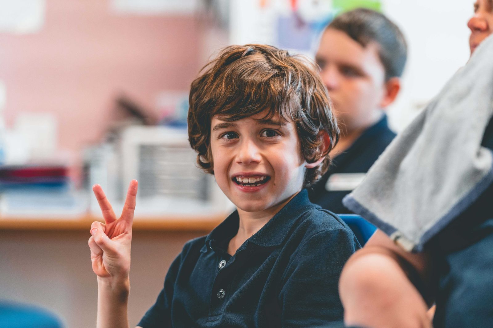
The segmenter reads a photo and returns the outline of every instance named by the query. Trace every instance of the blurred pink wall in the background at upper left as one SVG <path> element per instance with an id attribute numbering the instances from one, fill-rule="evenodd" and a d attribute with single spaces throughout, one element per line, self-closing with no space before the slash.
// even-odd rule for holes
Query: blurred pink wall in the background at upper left
<path id="1" fill-rule="evenodd" d="M 109 0 L 46 0 L 39 33 L 0 33 L 7 126 L 19 112 L 54 113 L 59 148 L 77 154 L 100 137 L 121 91 L 153 108 L 160 91 L 188 89 L 200 68 L 198 31 L 192 16 L 116 15 Z"/>

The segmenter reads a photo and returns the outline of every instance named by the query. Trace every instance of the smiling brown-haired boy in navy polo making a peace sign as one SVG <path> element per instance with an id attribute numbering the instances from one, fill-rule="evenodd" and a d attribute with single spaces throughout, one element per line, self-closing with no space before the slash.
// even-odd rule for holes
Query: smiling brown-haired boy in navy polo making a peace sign
<path id="1" fill-rule="evenodd" d="M 342 318 L 337 283 L 359 248 L 352 231 L 308 200 L 338 139 L 315 65 L 265 45 L 226 47 L 192 82 L 189 141 L 236 205 L 172 263 L 139 327 L 323 327 Z M 89 239 L 98 327 L 128 327 L 130 242 L 137 182 L 115 219 Z"/>

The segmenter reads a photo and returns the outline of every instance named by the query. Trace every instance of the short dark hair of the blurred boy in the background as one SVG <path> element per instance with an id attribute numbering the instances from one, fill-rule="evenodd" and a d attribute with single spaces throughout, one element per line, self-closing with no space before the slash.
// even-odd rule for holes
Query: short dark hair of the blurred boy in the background
<path id="1" fill-rule="evenodd" d="M 334 18 L 327 29 L 342 31 L 363 47 L 375 42 L 380 61 L 385 67 L 385 80 L 402 75 L 407 59 L 406 40 L 397 25 L 383 14 L 357 8 Z"/>

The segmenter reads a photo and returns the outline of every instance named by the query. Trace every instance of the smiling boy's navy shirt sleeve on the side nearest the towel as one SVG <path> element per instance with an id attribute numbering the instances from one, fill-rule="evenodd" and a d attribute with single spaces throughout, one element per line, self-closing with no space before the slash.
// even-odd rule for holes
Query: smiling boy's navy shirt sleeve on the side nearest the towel
<path id="1" fill-rule="evenodd" d="M 343 319 L 339 277 L 358 248 L 349 229 L 321 231 L 298 246 L 279 295 L 283 328 L 326 327 Z"/>

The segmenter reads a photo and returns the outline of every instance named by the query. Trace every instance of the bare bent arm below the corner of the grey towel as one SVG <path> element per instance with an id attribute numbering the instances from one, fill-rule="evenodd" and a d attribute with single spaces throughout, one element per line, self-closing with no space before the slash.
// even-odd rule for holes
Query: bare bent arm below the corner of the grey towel
<path id="1" fill-rule="evenodd" d="M 377 230 L 346 263 L 339 282 L 346 324 L 431 327 L 426 314 L 433 289 L 429 256 L 408 253 Z M 420 291 L 419 291 L 420 290 Z"/>

